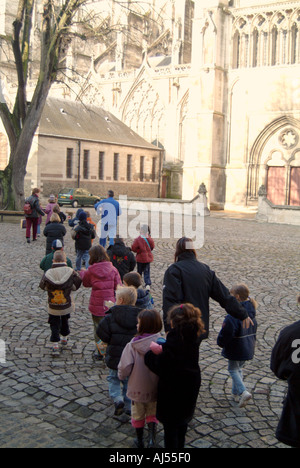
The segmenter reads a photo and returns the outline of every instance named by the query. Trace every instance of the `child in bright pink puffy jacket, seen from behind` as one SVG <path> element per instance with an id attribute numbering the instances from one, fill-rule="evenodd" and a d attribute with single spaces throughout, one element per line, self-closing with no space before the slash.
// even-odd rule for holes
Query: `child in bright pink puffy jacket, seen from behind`
<path id="1" fill-rule="evenodd" d="M 96 344 L 99 341 L 97 336 L 97 328 L 100 321 L 105 316 L 107 307 L 104 302 L 115 302 L 115 292 L 118 285 L 122 285 L 122 281 L 118 270 L 111 263 L 105 249 L 101 245 L 95 245 L 89 250 L 90 260 L 87 270 L 81 270 L 80 277 L 82 284 L 86 288 L 92 288 L 92 293 L 89 303 L 89 311 L 92 314 L 94 324 L 94 338 Z M 101 360 L 96 346 L 94 359 Z"/>

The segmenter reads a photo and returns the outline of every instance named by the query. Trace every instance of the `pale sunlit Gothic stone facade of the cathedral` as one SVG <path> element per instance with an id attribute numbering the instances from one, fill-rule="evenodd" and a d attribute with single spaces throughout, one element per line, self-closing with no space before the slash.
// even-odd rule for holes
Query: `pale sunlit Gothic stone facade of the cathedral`
<path id="1" fill-rule="evenodd" d="M 162 148 L 162 195 L 191 200 L 204 182 L 211 208 L 257 206 L 265 185 L 299 205 L 299 2 L 92 7 L 104 4 L 110 24 L 124 27 L 106 45 L 66 47 L 70 81 L 52 93 L 97 104 Z"/>

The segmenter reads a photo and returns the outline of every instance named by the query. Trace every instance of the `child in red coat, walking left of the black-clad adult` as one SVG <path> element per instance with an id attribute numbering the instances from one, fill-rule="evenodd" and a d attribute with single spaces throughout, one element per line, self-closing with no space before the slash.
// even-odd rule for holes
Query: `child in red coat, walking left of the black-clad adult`
<path id="1" fill-rule="evenodd" d="M 138 273 L 141 276 L 144 274 L 146 289 L 150 289 L 150 263 L 153 262 L 152 250 L 155 245 L 149 234 L 149 228 L 147 225 L 144 224 L 141 226 L 140 234 L 141 235 L 133 242 L 131 250 L 137 254 L 136 262 Z"/>

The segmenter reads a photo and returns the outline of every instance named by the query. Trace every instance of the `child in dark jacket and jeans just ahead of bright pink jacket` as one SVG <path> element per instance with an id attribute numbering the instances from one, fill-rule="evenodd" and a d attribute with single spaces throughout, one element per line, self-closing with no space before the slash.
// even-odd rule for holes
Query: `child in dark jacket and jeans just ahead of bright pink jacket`
<path id="1" fill-rule="evenodd" d="M 85 262 L 85 268 L 89 267 L 89 250 L 92 247 L 92 239 L 95 239 L 96 233 L 94 226 L 87 222 L 87 214 L 82 211 L 79 216 L 79 223 L 74 227 L 72 237 L 75 240 L 76 250 L 76 271 L 81 270 L 82 261 Z"/>

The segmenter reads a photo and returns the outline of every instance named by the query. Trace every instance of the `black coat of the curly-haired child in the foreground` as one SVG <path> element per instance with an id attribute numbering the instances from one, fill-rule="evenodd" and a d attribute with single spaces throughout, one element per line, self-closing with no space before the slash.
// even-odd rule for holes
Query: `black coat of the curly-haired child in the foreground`
<path id="1" fill-rule="evenodd" d="M 199 340 L 196 331 L 183 336 L 172 329 L 161 354 L 149 351 L 145 364 L 158 375 L 157 419 L 163 424 L 187 424 L 193 417 L 201 386 Z"/>

